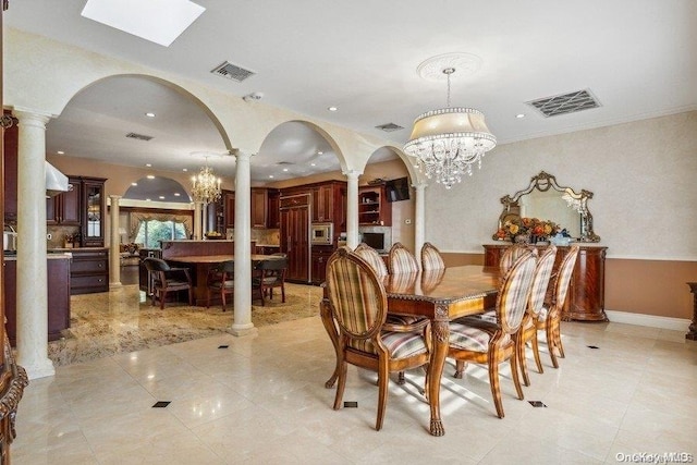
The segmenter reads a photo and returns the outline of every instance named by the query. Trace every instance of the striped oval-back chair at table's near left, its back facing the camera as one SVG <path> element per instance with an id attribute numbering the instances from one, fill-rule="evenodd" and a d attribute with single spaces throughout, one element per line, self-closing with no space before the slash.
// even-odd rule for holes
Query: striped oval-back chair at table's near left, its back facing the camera
<path id="1" fill-rule="evenodd" d="M 339 248 L 329 258 L 326 286 L 328 298 L 322 301 L 322 305 L 329 306 L 339 329 L 339 379 L 333 408 L 341 407 L 348 364 L 377 371 L 379 389 L 376 430 L 380 430 L 387 406 L 390 372 L 428 364 L 429 341 L 419 331 L 383 330 L 388 306 L 384 286 L 374 269 L 357 254 Z"/>

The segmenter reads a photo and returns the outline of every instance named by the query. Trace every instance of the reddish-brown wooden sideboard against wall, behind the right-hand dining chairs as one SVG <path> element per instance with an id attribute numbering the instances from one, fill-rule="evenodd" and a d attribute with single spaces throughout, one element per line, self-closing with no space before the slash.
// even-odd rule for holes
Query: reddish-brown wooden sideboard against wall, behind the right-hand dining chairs
<path id="1" fill-rule="evenodd" d="M 503 250 L 512 244 L 485 244 L 486 266 L 499 266 Z M 539 246 L 545 247 L 545 246 Z M 562 319 L 579 321 L 608 321 L 606 315 L 606 250 L 608 247 L 596 245 L 579 245 L 578 258 L 574 268 L 566 302 L 563 306 Z M 554 260 L 553 276 L 570 247 L 558 246 Z M 548 295 L 554 285 L 554 279 L 550 280 Z"/>

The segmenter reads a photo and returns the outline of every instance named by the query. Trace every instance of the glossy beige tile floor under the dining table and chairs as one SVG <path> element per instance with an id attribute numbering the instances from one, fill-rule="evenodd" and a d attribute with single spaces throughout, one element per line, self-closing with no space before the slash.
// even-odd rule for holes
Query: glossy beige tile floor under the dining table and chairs
<path id="1" fill-rule="evenodd" d="M 319 318 L 58 367 L 20 404 L 16 464 L 594 464 L 621 454 L 697 453 L 697 343 L 620 323 L 563 323 L 566 358 L 531 372 L 526 401 L 486 371 L 441 390 L 444 437 L 428 435 L 420 371 L 390 384 L 374 430 L 376 377 L 350 368 L 344 401 L 325 389 L 333 350 Z M 219 348 L 229 345 L 228 348 Z M 599 348 L 592 350 L 588 345 Z M 527 401 L 542 401 L 534 408 Z M 171 401 L 152 408 L 157 401 Z M 620 455 L 619 455 L 620 454 Z M 629 457 L 631 458 L 631 457 Z M 645 458 L 646 461 L 646 458 Z"/>

